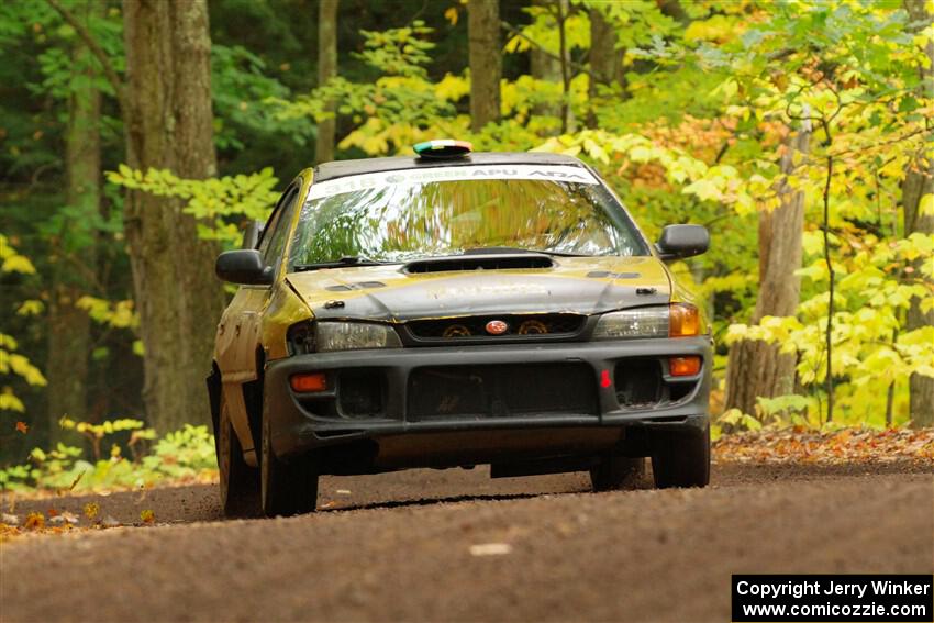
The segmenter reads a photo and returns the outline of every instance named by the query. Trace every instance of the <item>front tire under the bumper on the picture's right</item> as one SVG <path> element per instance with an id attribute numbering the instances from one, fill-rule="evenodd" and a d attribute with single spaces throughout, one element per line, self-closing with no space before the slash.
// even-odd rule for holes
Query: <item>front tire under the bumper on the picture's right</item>
<path id="1" fill-rule="evenodd" d="M 710 482 L 710 426 L 703 431 L 656 433 L 652 472 L 659 489 L 707 487 Z"/>

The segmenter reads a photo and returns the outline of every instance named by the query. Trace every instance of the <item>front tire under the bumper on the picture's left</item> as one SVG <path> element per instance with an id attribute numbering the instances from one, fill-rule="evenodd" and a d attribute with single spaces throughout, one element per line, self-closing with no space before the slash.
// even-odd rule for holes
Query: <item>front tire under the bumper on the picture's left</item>
<path id="1" fill-rule="evenodd" d="M 263 456 L 259 460 L 263 513 L 291 516 L 314 511 L 318 469 L 311 457 L 282 463 L 273 454 L 269 419 L 263 418 Z"/>

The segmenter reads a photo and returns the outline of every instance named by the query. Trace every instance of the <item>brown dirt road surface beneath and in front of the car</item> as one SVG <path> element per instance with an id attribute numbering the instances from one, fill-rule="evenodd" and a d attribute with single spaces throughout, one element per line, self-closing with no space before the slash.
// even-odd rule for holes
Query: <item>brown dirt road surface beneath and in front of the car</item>
<path id="1" fill-rule="evenodd" d="M 20 502 L 93 499 L 158 525 L 4 544 L 0 621 L 724 622 L 731 574 L 934 572 L 932 465 L 715 466 L 708 489 L 645 487 L 325 478 L 323 511 L 249 521 L 222 521 L 209 486 Z"/>

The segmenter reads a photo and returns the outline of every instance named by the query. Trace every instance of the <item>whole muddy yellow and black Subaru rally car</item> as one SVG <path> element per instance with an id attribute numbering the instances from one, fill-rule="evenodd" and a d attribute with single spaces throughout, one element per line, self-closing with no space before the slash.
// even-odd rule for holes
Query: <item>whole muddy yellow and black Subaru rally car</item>
<path id="1" fill-rule="evenodd" d="M 242 287 L 208 378 L 229 514 L 314 510 L 322 474 L 491 465 L 625 487 L 710 474 L 709 324 L 576 158 L 470 153 L 323 164 L 222 254 Z M 252 238 L 252 240 L 251 240 Z"/>

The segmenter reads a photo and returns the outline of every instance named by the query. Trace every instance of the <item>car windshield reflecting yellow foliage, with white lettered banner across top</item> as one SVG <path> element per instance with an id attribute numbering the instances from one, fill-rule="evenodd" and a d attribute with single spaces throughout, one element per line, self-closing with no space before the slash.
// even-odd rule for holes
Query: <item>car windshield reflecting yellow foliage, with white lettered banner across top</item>
<path id="1" fill-rule="evenodd" d="M 342 257 L 407 262 L 491 247 L 648 255 L 625 212 L 589 171 L 558 168 L 574 170 L 575 181 L 478 178 L 479 167 L 449 167 L 320 182 L 302 207 L 290 267 Z M 446 179 L 434 180 L 440 177 Z"/>

